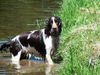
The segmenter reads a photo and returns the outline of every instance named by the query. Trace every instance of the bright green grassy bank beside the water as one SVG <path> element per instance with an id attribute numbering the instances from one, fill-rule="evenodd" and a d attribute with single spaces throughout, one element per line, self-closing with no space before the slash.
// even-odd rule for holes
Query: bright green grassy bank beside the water
<path id="1" fill-rule="evenodd" d="M 63 0 L 59 75 L 100 75 L 100 1 Z"/>

